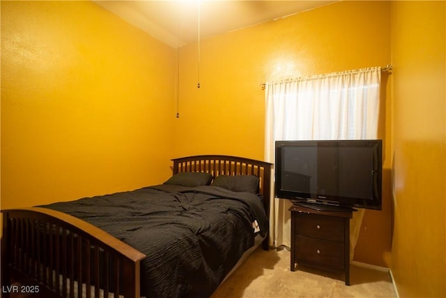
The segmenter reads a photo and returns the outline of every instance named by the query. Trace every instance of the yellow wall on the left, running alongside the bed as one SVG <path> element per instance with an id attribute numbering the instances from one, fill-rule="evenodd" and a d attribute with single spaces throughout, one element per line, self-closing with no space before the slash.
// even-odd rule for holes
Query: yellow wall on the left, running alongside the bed
<path id="1" fill-rule="evenodd" d="M 1 208 L 167 179 L 175 54 L 91 1 L 1 1 Z"/>

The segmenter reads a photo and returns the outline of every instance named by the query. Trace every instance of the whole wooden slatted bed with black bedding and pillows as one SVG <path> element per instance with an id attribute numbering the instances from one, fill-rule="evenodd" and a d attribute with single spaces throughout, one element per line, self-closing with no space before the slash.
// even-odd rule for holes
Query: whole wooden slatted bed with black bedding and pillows
<path id="1" fill-rule="evenodd" d="M 256 245 L 268 250 L 270 163 L 172 161 L 158 186 L 3 210 L 2 294 L 209 297 Z"/>

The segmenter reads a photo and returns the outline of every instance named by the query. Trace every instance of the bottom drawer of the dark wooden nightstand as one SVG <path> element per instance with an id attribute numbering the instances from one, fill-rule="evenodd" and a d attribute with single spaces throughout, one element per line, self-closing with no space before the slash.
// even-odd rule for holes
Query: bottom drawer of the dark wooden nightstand
<path id="1" fill-rule="evenodd" d="M 295 260 L 298 264 L 343 271 L 344 243 L 296 236 Z"/>

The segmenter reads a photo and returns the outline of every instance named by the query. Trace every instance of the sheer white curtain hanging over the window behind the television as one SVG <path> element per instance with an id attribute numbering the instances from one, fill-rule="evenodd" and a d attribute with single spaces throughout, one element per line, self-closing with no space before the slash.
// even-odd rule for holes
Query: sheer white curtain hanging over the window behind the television
<path id="1" fill-rule="evenodd" d="M 376 67 L 267 82 L 266 161 L 275 161 L 276 140 L 376 139 L 380 75 Z M 270 245 L 290 246 L 290 206 L 272 200 Z M 363 215 L 360 209 L 351 221 L 351 258 Z"/>

